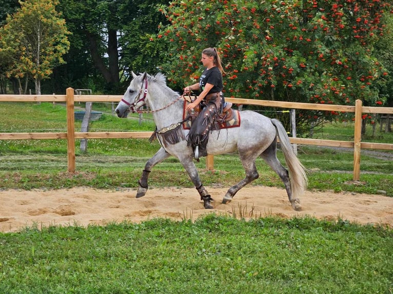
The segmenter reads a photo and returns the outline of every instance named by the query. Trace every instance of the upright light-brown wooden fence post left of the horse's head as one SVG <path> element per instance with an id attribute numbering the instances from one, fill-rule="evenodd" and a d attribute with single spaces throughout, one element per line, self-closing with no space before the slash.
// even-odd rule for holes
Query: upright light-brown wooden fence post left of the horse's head
<path id="1" fill-rule="evenodd" d="M 67 155 L 68 172 L 75 173 L 75 118 L 74 118 L 74 89 L 67 88 Z"/>

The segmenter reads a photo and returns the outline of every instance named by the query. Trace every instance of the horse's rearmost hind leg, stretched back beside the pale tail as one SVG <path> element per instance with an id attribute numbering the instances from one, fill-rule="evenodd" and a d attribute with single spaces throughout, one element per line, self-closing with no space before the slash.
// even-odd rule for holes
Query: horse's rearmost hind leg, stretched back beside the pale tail
<path id="1" fill-rule="evenodd" d="M 274 140 L 270 146 L 261 154 L 261 157 L 266 161 L 266 163 L 276 172 L 284 183 L 285 190 L 288 195 L 289 202 L 292 208 L 296 211 L 300 211 L 302 206 L 300 205 L 299 199 L 293 199 L 292 197 L 292 187 L 289 179 L 288 170 L 281 164 L 277 158 L 277 141 Z"/>

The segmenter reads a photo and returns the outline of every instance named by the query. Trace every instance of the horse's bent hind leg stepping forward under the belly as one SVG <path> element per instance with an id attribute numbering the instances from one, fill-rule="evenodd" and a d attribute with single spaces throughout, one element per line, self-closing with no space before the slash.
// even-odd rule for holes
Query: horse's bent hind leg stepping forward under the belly
<path id="1" fill-rule="evenodd" d="M 243 188 L 248 183 L 252 182 L 255 179 L 258 179 L 258 171 L 257 167 L 255 166 L 256 156 L 255 154 L 249 155 L 240 155 L 240 159 L 242 161 L 244 170 L 246 172 L 246 177 L 241 180 L 239 183 L 231 186 L 228 192 L 225 194 L 222 203 L 226 204 L 230 202 L 233 196 L 238 193 L 238 191 Z"/>

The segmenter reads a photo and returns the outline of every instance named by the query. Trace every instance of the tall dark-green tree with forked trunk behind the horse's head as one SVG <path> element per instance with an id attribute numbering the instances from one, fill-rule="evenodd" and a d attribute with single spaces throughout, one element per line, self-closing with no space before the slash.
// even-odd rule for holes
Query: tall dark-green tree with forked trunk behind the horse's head
<path id="1" fill-rule="evenodd" d="M 155 70 L 161 64 L 156 54 L 161 48 L 152 47 L 149 38 L 158 32 L 160 22 L 166 22 L 155 8 L 159 3 L 168 0 L 63 0 L 61 9 L 72 32 L 66 58 L 78 60 L 63 68 L 72 75 L 73 85 L 85 83 L 118 94 L 131 70 Z"/>

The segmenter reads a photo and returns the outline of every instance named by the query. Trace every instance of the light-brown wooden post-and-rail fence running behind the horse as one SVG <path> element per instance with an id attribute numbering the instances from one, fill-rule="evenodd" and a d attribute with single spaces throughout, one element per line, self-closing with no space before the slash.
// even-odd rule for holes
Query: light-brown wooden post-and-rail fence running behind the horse
<path id="1" fill-rule="evenodd" d="M 75 132 L 74 102 L 119 102 L 123 95 L 74 95 L 74 89 L 68 88 L 66 95 L 0 95 L 0 101 L 13 102 L 66 102 L 67 133 L 0 133 L 0 140 L 20 139 L 67 139 L 68 172 L 75 172 L 75 139 L 112 139 L 112 138 L 149 138 L 152 132 Z M 355 106 L 297 103 L 269 100 L 254 100 L 241 98 L 225 98 L 236 104 L 249 104 L 285 109 L 308 109 L 319 111 L 337 111 L 355 113 L 355 130 L 353 141 L 321 140 L 307 138 L 290 138 L 293 144 L 336 146 L 353 148 L 353 180 L 360 179 L 361 149 L 393 150 L 393 144 L 361 142 L 362 114 L 393 114 L 393 108 L 364 107 L 361 100 L 356 100 Z M 213 156 L 206 159 L 206 168 L 213 169 Z"/>

